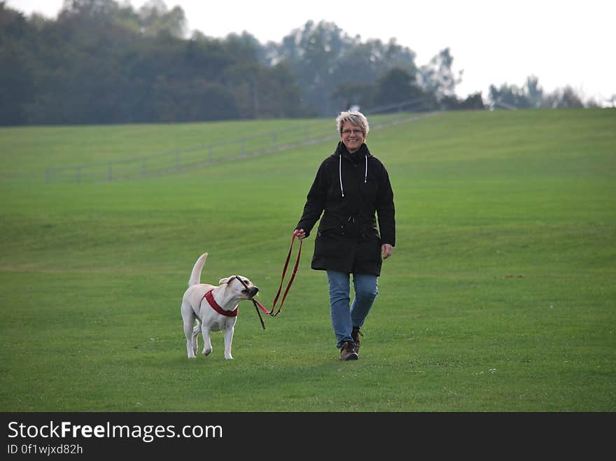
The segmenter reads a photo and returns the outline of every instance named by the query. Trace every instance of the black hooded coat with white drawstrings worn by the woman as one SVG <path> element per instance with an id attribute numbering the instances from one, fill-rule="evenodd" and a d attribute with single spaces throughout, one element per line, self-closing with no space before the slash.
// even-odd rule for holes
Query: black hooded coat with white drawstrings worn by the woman
<path id="1" fill-rule="evenodd" d="M 393 191 L 385 166 L 365 144 L 349 154 L 341 141 L 318 167 L 295 228 L 309 235 L 319 218 L 312 269 L 381 274 L 381 244 L 395 246 Z"/>

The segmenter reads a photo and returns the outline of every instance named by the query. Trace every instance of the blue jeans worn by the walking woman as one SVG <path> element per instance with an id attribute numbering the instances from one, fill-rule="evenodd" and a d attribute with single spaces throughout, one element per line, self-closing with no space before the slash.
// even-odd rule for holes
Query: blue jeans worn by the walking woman
<path id="1" fill-rule="evenodd" d="M 330 310 L 332 327 L 339 348 L 344 341 L 353 341 L 353 327 L 361 327 L 374 299 L 379 294 L 377 276 L 369 274 L 353 274 L 355 299 L 351 302 L 350 274 L 338 271 L 327 271 L 330 281 Z"/>

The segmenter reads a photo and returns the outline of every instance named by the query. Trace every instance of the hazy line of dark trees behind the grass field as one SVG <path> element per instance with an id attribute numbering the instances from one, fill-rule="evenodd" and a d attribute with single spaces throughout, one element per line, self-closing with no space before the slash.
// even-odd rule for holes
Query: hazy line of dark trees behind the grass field
<path id="1" fill-rule="evenodd" d="M 55 19 L 0 2 L 0 125 L 188 122 L 332 115 L 350 106 L 482 109 L 458 99 L 449 48 L 417 66 L 396 43 L 308 21 L 281 43 L 247 32 L 186 38 L 181 7 L 64 0 Z M 492 86 L 488 104 L 583 106 L 575 92 Z M 390 108 L 390 109 L 388 109 Z"/>

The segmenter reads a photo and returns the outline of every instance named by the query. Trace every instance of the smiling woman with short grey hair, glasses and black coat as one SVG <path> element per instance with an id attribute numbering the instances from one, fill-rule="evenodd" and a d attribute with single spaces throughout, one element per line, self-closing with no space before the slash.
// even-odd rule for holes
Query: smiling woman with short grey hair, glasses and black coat
<path id="1" fill-rule="evenodd" d="M 360 327 L 377 297 L 382 261 L 395 246 L 395 210 L 387 170 L 365 144 L 369 131 L 365 116 L 342 112 L 336 124 L 340 141 L 319 166 L 295 229 L 302 240 L 321 219 L 311 267 L 328 274 L 340 359 L 357 360 Z M 350 274 L 355 290 L 352 304 Z"/>

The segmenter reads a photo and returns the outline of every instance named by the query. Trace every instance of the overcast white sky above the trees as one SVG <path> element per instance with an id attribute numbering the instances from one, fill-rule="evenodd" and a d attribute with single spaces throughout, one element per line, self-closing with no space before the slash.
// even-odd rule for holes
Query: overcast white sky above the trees
<path id="1" fill-rule="evenodd" d="M 127 0 L 120 0 L 127 1 Z M 308 20 L 335 22 L 363 41 L 396 38 L 427 64 L 443 48 L 463 70 L 459 97 L 489 85 L 523 86 L 539 78 L 547 92 L 566 85 L 601 103 L 616 94 L 614 0 L 164 0 L 183 8 L 188 29 L 211 37 L 247 31 L 261 43 L 280 42 Z M 10 8 L 56 17 L 63 0 L 8 0 Z M 131 0 L 135 8 L 146 3 Z"/>

